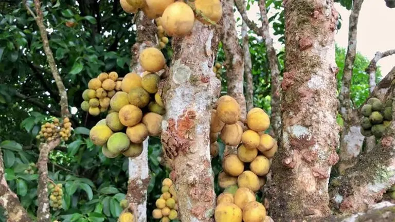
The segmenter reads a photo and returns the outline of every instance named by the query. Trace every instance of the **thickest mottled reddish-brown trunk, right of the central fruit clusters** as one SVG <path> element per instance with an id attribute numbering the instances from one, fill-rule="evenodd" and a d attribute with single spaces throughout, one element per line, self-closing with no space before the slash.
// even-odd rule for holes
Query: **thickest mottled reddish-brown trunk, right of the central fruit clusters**
<path id="1" fill-rule="evenodd" d="M 270 188 L 275 221 L 330 214 L 328 180 L 338 156 L 333 1 L 289 0 L 285 7 L 282 140 Z"/>

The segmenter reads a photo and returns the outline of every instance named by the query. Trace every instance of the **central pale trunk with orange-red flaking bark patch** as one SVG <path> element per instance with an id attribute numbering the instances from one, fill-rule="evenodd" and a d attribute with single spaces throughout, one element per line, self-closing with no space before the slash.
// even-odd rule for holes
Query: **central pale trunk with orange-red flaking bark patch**
<path id="1" fill-rule="evenodd" d="M 213 28 L 195 22 L 190 35 L 173 38 L 170 75 L 163 89 L 167 113 L 161 142 L 173 160 L 179 219 L 212 221 L 216 194 L 209 152 L 211 108 L 220 90 L 212 71 L 218 48 Z"/>

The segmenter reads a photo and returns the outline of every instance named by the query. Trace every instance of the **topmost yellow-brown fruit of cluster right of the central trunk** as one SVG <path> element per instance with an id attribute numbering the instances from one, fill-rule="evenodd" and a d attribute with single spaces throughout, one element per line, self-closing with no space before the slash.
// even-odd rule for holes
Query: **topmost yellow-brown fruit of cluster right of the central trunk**
<path id="1" fill-rule="evenodd" d="M 222 96 L 218 99 L 217 104 L 217 115 L 222 122 L 225 124 L 235 124 L 239 121 L 241 109 L 239 103 L 234 98 Z"/>

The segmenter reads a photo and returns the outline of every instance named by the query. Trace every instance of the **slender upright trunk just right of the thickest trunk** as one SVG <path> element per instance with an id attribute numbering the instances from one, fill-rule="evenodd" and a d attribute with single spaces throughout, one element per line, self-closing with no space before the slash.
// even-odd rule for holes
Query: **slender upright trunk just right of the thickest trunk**
<path id="1" fill-rule="evenodd" d="M 360 115 L 351 105 L 350 85 L 352 68 L 356 54 L 356 36 L 358 17 L 360 15 L 363 0 L 354 0 L 349 18 L 348 48 L 344 62 L 342 89 L 340 90 L 340 113 L 344 119 L 344 128 L 340 137 L 339 172 L 352 167 L 362 149 L 365 137 L 361 134 Z"/>

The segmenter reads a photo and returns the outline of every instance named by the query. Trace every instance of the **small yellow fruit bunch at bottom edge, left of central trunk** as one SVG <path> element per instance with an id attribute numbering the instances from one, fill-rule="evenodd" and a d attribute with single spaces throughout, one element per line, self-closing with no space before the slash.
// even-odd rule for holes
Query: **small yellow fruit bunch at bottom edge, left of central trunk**
<path id="1" fill-rule="evenodd" d="M 165 178 L 162 181 L 162 195 L 156 200 L 156 209 L 152 211 L 152 217 L 161 219 L 162 222 L 169 222 L 177 218 L 177 193 L 173 181 Z"/>

